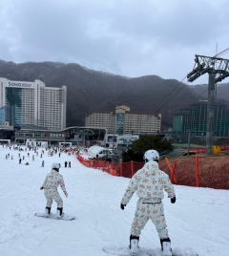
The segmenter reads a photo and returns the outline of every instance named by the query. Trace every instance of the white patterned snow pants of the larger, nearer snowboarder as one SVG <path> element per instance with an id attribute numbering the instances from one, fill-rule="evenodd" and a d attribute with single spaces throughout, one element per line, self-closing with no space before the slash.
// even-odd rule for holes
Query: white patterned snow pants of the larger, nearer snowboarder
<path id="1" fill-rule="evenodd" d="M 168 238 L 168 230 L 164 217 L 163 203 L 136 203 L 135 219 L 132 224 L 131 234 L 139 236 L 145 224 L 151 219 L 156 225 L 158 237 L 160 239 Z"/>

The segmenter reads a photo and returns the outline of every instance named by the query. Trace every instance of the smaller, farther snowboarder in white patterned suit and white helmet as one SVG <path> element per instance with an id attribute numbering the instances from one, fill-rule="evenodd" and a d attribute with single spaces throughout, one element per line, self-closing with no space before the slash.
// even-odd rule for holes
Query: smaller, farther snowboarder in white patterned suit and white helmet
<path id="1" fill-rule="evenodd" d="M 59 174 L 59 163 L 52 163 L 52 171 L 46 176 L 46 179 L 40 189 L 44 189 L 44 194 L 47 199 L 46 212 L 51 213 L 52 200 L 57 203 L 57 214 L 63 215 L 63 200 L 60 197 L 57 187 L 60 185 L 66 197 L 68 193 L 65 188 L 63 176 Z"/>

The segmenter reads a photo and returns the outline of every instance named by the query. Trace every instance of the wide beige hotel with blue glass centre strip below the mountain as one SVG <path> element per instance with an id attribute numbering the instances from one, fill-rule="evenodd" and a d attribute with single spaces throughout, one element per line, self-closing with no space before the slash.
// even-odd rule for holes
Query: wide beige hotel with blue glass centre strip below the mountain
<path id="1" fill-rule="evenodd" d="M 93 112 L 86 117 L 85 125 L 106 127 L 109 134 L 156 134 L 160 131 L 161 115 L 135 113 L 124 105 L 114 112 Z"/>

